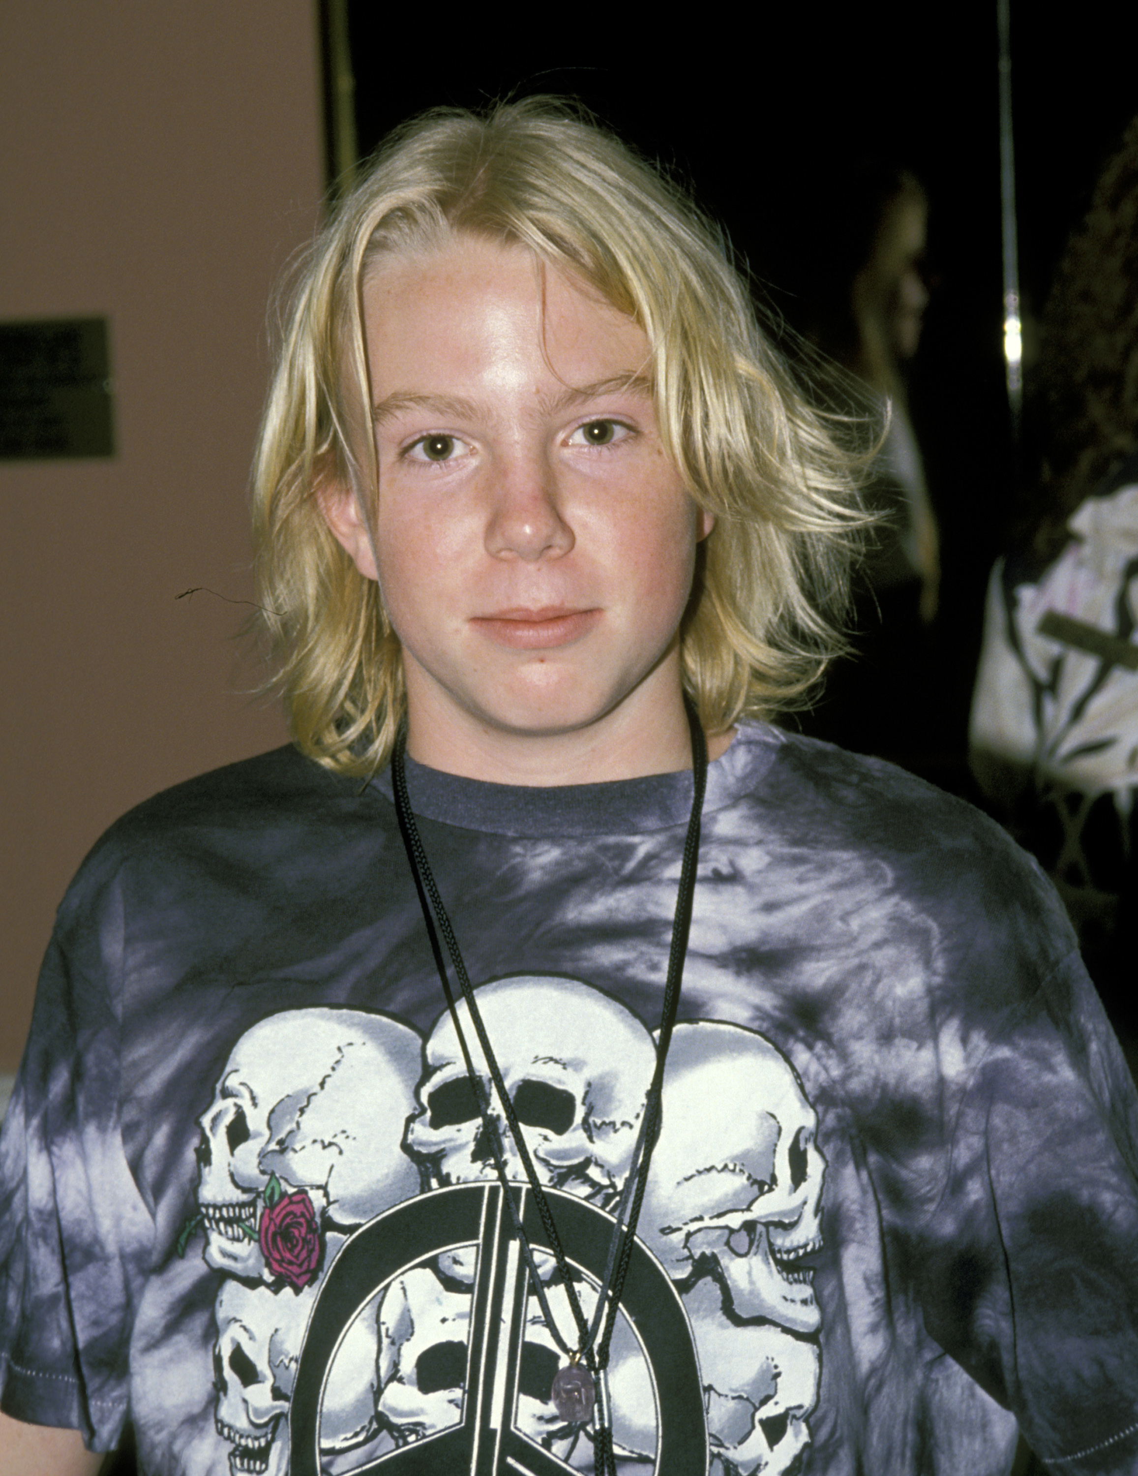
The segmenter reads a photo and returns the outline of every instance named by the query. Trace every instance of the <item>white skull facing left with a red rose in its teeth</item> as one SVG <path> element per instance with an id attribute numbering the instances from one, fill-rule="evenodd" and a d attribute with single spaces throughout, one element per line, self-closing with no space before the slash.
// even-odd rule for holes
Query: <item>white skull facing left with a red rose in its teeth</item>
<path id="1" fill-rule="evenodd" d="M 246 1030 L 198 1119 L 207 1265 L 272 1280 L 257 1224 L 273 1175 L 339 1227 L 416 1194 L 400 1139 L 419 1061 L 415 1030 L 359 1010 L 289 1010 Z"/>

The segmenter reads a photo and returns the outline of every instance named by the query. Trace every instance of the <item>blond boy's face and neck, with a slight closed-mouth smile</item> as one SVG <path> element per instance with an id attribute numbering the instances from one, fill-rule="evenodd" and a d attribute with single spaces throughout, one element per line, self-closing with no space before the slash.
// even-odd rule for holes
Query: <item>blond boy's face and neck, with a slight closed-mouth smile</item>
<path id="1" fill-rule="evenodd" d="M 679 763 L 623 772 L 679 768 L 677 627 L 710 517 L 660 443 L 642 329 L 474 239 L 381 263 L 363 310 L 375 559 L 351 494 L 323 505 L 403 644 L 412 754 L 487 778 L 472 753 L 548 760 L 584 735 L 596 756 L 679 720 Z"/>

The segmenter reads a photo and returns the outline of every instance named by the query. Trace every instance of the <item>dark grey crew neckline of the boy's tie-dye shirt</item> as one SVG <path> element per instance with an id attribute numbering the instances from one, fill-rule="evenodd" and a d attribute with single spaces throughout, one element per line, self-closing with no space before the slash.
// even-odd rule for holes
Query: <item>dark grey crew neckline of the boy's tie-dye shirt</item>
<path id="1" fill-rule="evenodd" d="M 766 723 L 739 723 L 726 751 L 707 766 L 704 813 L 725 809 L 754 790 L 784 742 L 784 735 Z M 407 756 L 406 775 L 410 807 L 419 819 L 496 835 L 644 834 L 686 825 L 691 815 L 691 769 L 540 787 L 465 779 Z M 394 804 L 390 765 L 370 787 Z"/>

